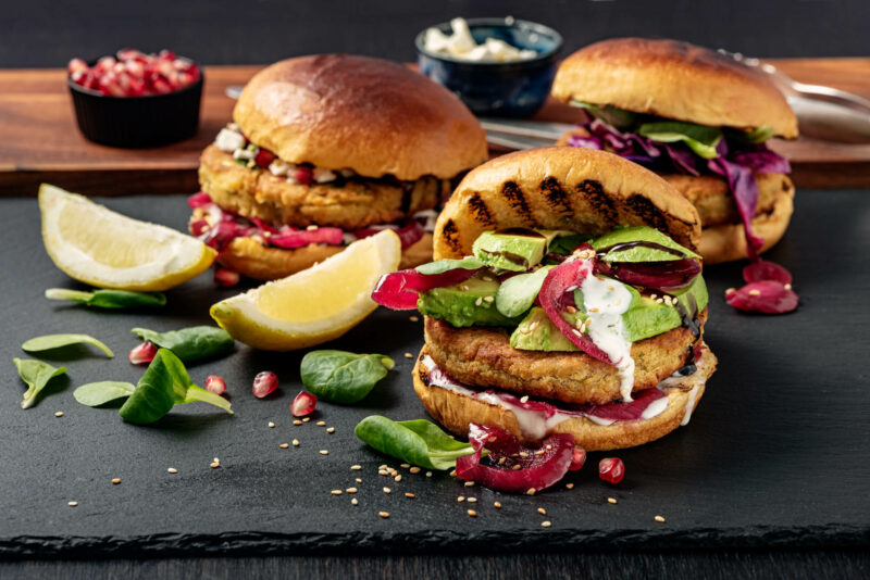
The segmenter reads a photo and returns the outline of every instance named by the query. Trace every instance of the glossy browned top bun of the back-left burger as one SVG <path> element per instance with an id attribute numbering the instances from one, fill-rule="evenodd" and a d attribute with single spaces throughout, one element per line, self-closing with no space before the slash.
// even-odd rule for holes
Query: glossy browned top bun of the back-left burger
<path id="1" fill-rule="evenodd" d="M 364 177 L 449 179 L 488 156 L 481 124 L 453 93 L 368 56 L 318 54 L 268 66 L 247 84 L 233 118 L 286 162 Z"/>

